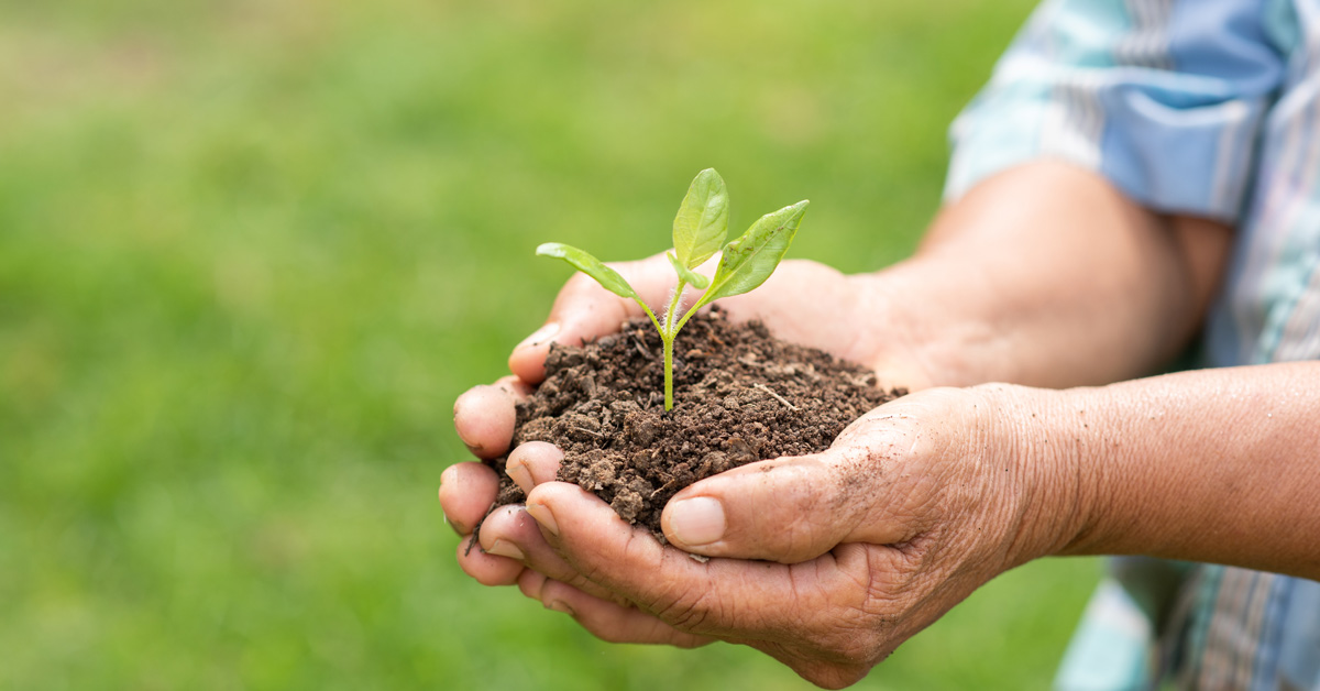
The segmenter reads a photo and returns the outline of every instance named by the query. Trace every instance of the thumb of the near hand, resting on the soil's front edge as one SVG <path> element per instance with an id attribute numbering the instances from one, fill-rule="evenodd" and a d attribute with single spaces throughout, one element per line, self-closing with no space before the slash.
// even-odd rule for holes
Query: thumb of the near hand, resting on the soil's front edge
<path id="1" fill-rule="evenodd" d="M 908 539 L 909 526 L 873 511 L 883 473 L 866 455 L 855 460 L 857 451 L 760 461 L 702 480 L 665 506 L 665 538 L 698 555 L 784 564 L 841 543 Z"/>

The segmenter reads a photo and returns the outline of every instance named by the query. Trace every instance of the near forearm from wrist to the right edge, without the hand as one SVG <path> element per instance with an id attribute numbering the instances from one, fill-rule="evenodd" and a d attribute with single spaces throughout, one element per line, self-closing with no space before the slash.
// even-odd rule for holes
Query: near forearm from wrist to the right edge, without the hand
<path id="1" fill-rule="evenodd" d="M 1035 448 L 1071 470 L 1060 554 L 1140 554 L 1320 579 L 1320 362 L 1049 392 Z M 1069 477 L 1072 476 L 1072 477 Z M 1056 494 L 1056 495 L 1057 495 Z M 1076 513 L 1072 509 L 1077 509 Z M 1061 522 L 1061 521 L 1060 521 Z"/>

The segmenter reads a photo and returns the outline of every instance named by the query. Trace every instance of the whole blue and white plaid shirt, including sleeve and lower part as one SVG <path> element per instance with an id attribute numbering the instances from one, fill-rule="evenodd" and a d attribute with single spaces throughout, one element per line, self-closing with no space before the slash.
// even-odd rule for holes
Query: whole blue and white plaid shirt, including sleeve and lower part
<path id="1" fill-rule="evenodd" d="M 1049 157 L 1236 225 L 1205 366 L 1320 358 L 1320 0 L 1048 0 L 952 139 L 949 201 Z M 1320 691 L 1320 583 L 1114 559 L 1056 687 Z"/>

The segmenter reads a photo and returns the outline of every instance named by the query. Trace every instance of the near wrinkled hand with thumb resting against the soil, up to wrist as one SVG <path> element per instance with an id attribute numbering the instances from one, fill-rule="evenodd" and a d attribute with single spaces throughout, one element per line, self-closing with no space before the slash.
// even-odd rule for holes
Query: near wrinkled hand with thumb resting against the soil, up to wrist
<path id="1" fill-rule="evenodd" d="M 1002 386 L 913 394 L 867 414 L 824 453 L 697 482 L 669 502 L 663 526 L 708 563 L 550 481 L 549 445 L 527 452 L 537 482 L 527 511 L 488 523 L 529 567 L 523 592 L 601 638 L 744 643 L 842 687 L 977 587 L 1078 530 L 1071 461 L 1032 443 L 1036 427 L 1026 424 L 1039 395 Z"/>

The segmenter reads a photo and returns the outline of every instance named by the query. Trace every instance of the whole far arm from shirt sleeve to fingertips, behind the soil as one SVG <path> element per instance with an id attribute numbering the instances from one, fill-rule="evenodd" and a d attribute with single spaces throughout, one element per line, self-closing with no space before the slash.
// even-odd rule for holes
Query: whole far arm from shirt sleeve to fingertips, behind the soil
<path id="1" fill-rule="evenodd" d="M 1102 383 L 1150 373 L 1185 345 L 1228 240 L 1220 223 L 1159 217 L 1094 173 L 1041 161 L 949 205 L 913 259 L 857 276 L 789 262 L 758 291 L 721 304 L 735 318 L 763 318 L 780 337 L 867 363 L 882 381 L 912 390 Z M 669 289 L 663 256 L 616 267 L 656 301 Z M 503 455 L 513 399 L 544 377 L 549 342 L 610 333 L 636 314 L 631 301 L 576 276 L 552 309 L 553 333 L 533 336 L 510 357 L 516 377 L 502 382 L 504 391 L 478 387 L 459 398 L 459 436 L 483 458 Z M 461 535 L 482 521 L 496 486 L 480 464 L 445 470 L 441 503 Z M 459 564 L 486 584 L 510 584 L 523 572 L 499 556 L 510 544 L 496 544 L 502 526 L 494 517 L 482 530 L 494 554 L 459 547 Z"/>

